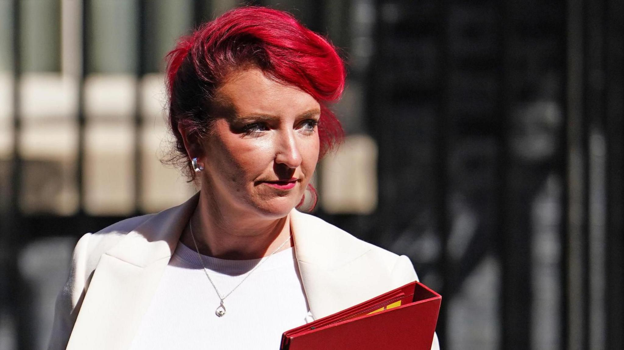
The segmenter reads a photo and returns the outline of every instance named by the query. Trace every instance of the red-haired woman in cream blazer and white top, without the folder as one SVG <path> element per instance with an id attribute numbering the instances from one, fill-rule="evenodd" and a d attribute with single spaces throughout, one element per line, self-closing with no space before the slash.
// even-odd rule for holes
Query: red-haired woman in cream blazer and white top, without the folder
<path id="1" fill-rule="evenodd" d="M 169 118 L 201 189 L 79 240 L 50 348 L 278 349 L 283 331 L 415 280 L 407 257 L 295 209 L 341 140 L 325 105 L 344 72 L 331 44 L 273 9 L 183 37 Z"/>

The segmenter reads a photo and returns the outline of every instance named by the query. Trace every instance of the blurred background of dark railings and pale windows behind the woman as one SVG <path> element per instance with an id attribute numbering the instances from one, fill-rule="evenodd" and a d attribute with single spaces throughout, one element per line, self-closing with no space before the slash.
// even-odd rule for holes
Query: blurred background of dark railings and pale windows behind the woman
<path id="1" fill-rule="evenodd" d="M 343 50 L 314 214 L 411 258 L 442 349 L 622 349 L 622 0 L 251 3 Z M 163 57 L 237 5 L 0 0 L 0 349 L 46 348 L 82 234 L 193 194 Z"/>

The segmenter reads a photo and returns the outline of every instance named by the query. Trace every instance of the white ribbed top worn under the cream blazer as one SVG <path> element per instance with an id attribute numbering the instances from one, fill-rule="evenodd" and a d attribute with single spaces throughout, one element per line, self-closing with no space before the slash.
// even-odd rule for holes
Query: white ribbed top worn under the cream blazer
<path id="1" fill-rule="evenodd" d="M 221 295 L 263 259 L 202 255 Z M 130 349 L 280 349 L 281 334 L 311 321 L 294 248 L 273 254 L 225 298 L 227 313 L 197 252 L 179 242 Z"/>

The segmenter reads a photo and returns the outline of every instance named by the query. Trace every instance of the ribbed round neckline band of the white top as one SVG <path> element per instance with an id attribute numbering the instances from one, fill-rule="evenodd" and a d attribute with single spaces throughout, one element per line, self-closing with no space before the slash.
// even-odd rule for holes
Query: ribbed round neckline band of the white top
<path id="1" fill-rule="evenodd" d="M 178 245 L 175 248 L 175 252 L 173 253 L 173 255 L 189 263 L 193 266 L 193 268 L 202 268 L 202 263 L 199 260 L 197 251 L 190 247 L 187 247 L 182 242 L 178 241 Z M 258 267 L 256 273 L 265 270 L 272 270 L 273 268 L 292 265 L 293 260 L 295 260 L 295 252 L 293 247 L 289 247 L 285 250 L 282 250 L 281 252 L 273 254 L 273 256 L 271 256 L 270 258 L 262 257 L 249 260 L 220 259 L 202 254 L 203 263 L 208 270 L 227 275 L 235 275 L 248 272 L 253 267 L 258 265 L 258 263 L 260 263 L 263 259 L 268 260 L 264 262 L 260 267 Z"/>

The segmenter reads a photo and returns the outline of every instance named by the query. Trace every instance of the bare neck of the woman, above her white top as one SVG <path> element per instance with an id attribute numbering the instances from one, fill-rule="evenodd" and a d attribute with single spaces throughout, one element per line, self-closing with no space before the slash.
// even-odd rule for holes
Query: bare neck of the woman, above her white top
<path id="1" fill-rule="evenodd" d="M 290 235 L 290 215 L 281 219 L 265 219 L 220 210 L 210 205 L 207 198 L 200 199 L 190 222 L 199 252 L 210 257 L 228 260 L 248 260 L 270 255 Z M 195 244 L 187 227 L 180 238 L 187 247 Z M 292 245 L 292 239 L 280 250 Z"/>

